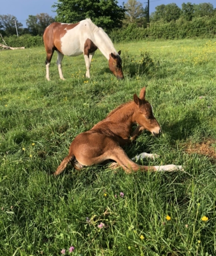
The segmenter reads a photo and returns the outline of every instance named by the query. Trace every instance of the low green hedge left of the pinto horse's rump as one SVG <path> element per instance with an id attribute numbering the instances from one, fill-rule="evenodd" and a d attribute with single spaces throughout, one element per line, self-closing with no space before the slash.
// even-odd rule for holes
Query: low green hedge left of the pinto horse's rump
<path id="1" fill-rule="evenodd" d="M 25 34 L 22 36 L 9 36 L 9 37 L 4 37 L 4 41 L 8 46 L 11 47 L 36 47 L 36 46 L 42 46 L 43 45 L 43 39 L 42 36 L 32 36 L 29 34 Z M 2 42 L 4 44 L 4 42 Z"/>

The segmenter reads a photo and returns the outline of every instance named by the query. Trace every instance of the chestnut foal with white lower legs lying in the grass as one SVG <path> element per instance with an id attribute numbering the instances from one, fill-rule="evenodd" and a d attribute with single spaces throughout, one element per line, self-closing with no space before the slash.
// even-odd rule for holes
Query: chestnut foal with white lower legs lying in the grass
<path id="1" fill-rule="evenodd" d="M 132 125 L 138 124 L 132 132 Z M 131 143 L 141 131 L 149 130 L 154 136 L 161 132 L 160 125 L 153 116 L 152 107 L 145 100 L 145 87 L 141 89 L 139 98 L 133 95 L 133 101 L 125 103 L 113 110 L 104 120 L 93 126 L 89 131 L 80 133 L 71 143 L 69 155 L 64 158 L 54 175 L 60 174 L 71 162 L 73 167 L 81 170 L 95 164 L 107 164 L 112 169 L 122 167 L 125 172 L 133 171 L 172 171 L 182 169 L 174 164 L 160 166 L 143 166 L 134 163 L 126 155 L 122 146 Z M 157 155 L 141 153 L 137 158 L 154 158 Z"/>

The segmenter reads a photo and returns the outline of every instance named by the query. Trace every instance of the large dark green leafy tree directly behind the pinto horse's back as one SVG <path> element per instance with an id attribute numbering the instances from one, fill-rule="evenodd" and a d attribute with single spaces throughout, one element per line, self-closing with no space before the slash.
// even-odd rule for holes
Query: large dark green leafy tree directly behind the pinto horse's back
<path id="1" fill-rule="evenodd" d="M 91 18 L 105 30 L 122 27 L 125 8 L 117 5 L 116 0 L 58 0 L 52 5 L 57 8 L 56 21 L 76 23 Z"/>

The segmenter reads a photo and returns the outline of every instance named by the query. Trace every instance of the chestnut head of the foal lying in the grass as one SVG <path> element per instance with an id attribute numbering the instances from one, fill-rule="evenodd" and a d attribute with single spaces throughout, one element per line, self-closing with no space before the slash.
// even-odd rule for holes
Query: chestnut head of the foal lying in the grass
<path id="1" fill-rule="evenodd" d="M 136 123 L 149 130 L 154 136 L 159 135 L 161 127 L 153 115 L 152 106 L 149 101 L 145 100 L 145 87 L 141 89 L 139 97 L 137 94 L 133 95 L 133 100 L 138 106 L 137 111 L 134 113 Z"/>

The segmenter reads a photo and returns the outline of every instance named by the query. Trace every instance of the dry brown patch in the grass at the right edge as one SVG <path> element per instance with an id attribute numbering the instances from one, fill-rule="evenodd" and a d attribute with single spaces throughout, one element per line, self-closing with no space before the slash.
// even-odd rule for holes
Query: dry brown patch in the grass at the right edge
<path id="1" fill-rule="evenodd" d="M 192 142 L 187 142 L 185 143 L 185 151 L 187 153 L 198 153 L 216 159 L 216 140 L 207 138 L 200 143 L 192 144 Z"/>

